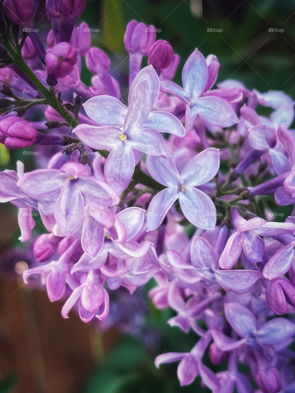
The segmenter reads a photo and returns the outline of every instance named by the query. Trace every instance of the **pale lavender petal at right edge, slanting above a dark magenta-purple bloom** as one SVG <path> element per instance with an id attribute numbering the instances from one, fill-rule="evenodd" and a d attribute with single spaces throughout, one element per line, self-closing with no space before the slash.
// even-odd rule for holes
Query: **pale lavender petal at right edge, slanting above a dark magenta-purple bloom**
<path id="1" fill-rule="evenodd" d="M 269 280 L 286 274 L 295 260 L 294 244 L 281 247 L 264 266 L 262 274 Z"/>

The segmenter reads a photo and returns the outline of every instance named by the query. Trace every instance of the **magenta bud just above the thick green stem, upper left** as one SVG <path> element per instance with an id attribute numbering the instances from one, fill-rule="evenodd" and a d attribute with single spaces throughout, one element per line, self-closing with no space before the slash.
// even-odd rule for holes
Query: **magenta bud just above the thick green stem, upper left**
<path id="1" fill-rule="evenodd" d="M 59 42 L 47 51 L 45 62 L 48 75 L 63 78 L 72 72 L 77 62 L 77 50 L 68 42 Z"/>

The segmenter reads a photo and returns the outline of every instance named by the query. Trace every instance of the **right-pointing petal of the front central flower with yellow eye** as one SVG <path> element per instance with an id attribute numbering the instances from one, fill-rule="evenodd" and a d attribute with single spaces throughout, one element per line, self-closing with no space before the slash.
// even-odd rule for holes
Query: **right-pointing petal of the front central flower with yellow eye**
<path id="1" fill-rule="evenodd" d="M 133 132 L 128 141 L 133 149 L 148 155 L 172 157 L 166 140 L 159 131 L 144 128 L 137 132 Z"/>

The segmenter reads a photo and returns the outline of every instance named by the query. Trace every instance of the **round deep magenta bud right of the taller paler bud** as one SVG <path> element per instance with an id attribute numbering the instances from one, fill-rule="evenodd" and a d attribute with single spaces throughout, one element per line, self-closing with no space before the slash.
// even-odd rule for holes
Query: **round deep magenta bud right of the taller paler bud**
<path id="1" fill-rule="evenodd" d="M 173 54 L 173 48 L 168 41 L 157 40 L 149 49 L 148 62 L 159 72 L 171 65 Z"/>

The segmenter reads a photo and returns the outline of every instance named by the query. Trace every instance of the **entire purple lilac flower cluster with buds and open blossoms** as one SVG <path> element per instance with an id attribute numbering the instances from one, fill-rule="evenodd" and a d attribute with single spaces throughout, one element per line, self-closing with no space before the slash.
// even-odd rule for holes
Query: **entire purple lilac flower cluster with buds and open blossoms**
<path id="1" fill-rule="evenodd" d="M 189 352 L 160 354 L 157 367 L 179 362 L 181 385 L 200 376 L 214 393 L 294 392 L 295 212 L 277 222 L 267 206 L 271 196 L 295 203 L 294 101 L 235 80 L 212 89 L 218 59 L 197 49 L 176 84 L 179 56 L 135 20 L 124 37 L 125 97 L 87 24 L 76 27 L 85 1 L 46 1 L 46 48 L 34 25 L 39 2 L 21 3 L 4 0 L 0 18 L 0 141 L 53 146 L 35 156 L 38 169 L 18 161 L 0 173 L 20 241 L 36 215 L 47 230 L 24 281 L 41 275 L 49 299 L 64 299 L 62 316 L 76 307 L 88 322 L 107 318 L 110 291 L 155 279 L 155 306 L 196 335 Z M 82 57 L 92 86 L 81 81 Z M 205 353 L 225 371 L 205 365 Z"/>

